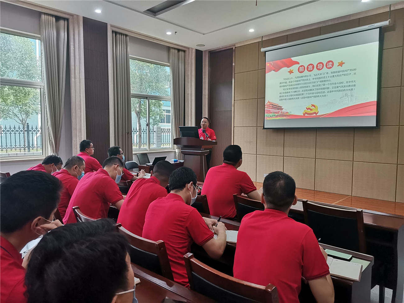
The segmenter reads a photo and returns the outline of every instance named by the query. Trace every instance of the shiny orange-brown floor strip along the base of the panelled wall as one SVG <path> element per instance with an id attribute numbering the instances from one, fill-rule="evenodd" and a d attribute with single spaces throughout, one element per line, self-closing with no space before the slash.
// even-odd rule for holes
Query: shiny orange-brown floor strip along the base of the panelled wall
<path id="1" fill-rule="evenodd" d="M 257 188 L 262 187 L 262 183 L 255 182 Z M 350 206 L 366 210 L 378 211 L 404 216 L 404 203 L 390 202 L 385 200 L 369 199 L 341 194 L 327 193 L 310 189 L 297 188 L 297 198 L 311 201 L 324 202 L 336 205 Z"/>

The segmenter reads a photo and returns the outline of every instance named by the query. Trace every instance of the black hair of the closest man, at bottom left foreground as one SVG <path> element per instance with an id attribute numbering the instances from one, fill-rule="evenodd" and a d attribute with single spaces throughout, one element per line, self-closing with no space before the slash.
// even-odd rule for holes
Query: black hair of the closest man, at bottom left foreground
<path id="1" fill-rule="evenodd" d="M 114 223 L 100 219 L 47 233 L 29 257 L 27 301 L 110 303 L 128 290 L 128 241 Z"/>

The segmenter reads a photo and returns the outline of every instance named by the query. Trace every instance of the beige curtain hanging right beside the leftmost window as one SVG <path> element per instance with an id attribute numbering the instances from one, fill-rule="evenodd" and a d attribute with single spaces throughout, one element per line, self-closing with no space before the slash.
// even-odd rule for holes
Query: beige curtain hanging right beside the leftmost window
<path id="1" fill-rule="evenodd" d="M 50 154 L 58 154 L 65 103 L 67 19 L 42 13 L 41 46 Z"/>

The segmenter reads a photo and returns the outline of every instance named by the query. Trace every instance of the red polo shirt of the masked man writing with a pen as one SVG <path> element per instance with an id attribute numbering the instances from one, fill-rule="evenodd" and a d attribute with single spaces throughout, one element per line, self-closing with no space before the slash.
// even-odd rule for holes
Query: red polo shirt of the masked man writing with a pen
<path id="1" fill-rule="evenodd" d="M 185 204 L 181 196 L 168 194 L 151 202 L 142 237 L 165 242 L 174 280 L 189 287 L 184 255 L 193 242 L 203 245 L 212 239 L 213 232 L 196 208 Z"/>

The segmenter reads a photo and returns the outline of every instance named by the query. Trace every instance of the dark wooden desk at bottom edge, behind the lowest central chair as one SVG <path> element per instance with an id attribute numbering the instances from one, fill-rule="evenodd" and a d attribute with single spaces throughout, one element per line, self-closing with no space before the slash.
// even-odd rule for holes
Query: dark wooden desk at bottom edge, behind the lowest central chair
<path id="1" fill-rule="evenodd" d="M 216 302 L 139 265 L 132 263 L 132 269 L 135 277 L 140 279 L 135 290 L 139 303 L 163 302 L 166 298 L 180 302 Z"/>

